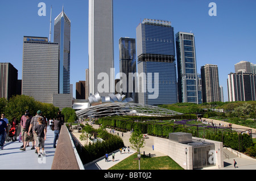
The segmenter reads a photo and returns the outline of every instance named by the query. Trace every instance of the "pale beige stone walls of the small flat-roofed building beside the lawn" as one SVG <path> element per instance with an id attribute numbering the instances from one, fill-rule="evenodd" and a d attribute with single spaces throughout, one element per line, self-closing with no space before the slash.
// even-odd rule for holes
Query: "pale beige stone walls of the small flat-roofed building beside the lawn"
<path id="1" fill-rule="evenodd" d="M 195 139 L 195 137 L 193 137 L 193 139 Z M 199 138 L 196 138 L 196 139 L 198 140 Z M 212 140 L 205 140 L 205 141 L 213 142 L 215 144 L 216 166 L 224 167 L 222 142 L 217 142 Z M 188 149 L 187 159 L 185 154 L 185 148 Z M 154 137 L 154 150 L 168 155 L 176 163 L 178 163 L 181 167 L 183 167 L 183 169 L 188 169 L 188 170 L 193 169 L 192 146 L 180 144 L 179 142 L 171 141 L 166 138 Z"/>

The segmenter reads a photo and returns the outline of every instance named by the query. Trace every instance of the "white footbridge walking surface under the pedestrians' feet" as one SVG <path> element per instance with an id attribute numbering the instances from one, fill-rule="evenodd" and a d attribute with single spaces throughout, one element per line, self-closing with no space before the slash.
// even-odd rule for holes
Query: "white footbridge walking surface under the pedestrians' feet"
<path id="1" fill-rule="evenodd" d="M 30 146 L 26 151 L 19 150 L 22 142 L 6 142 L 0 150 L 0 170 L 51 170 L 55 149 L 53 149 L 54 132 L 47 128 L 45 141 L 46 157 L 38 158 Z"/>

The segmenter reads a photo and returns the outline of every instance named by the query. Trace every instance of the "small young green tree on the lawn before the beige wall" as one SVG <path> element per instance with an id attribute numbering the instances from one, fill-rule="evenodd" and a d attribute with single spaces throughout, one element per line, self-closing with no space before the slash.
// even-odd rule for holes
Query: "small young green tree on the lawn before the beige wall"
<path id="1" fill-rule="evenodd" d="M 143 134 L 140 131 L 135 130 L 133 134 L 131 134 L 129 141 L 131 143 L 131 147 L 137 150 L 138 153 L 140 153 L 139 150 L 143 148 L 145 144 Z"/>

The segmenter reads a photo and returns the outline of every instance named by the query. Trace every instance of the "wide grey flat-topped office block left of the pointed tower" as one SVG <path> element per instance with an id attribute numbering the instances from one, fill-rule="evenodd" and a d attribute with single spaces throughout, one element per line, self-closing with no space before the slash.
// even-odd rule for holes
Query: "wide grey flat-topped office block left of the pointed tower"
<path id="1" fill-rule="evenodd" d="M 23 37 L 22 94 L 52 103 L 58 93 L 59 44 L 47 37 Z"/>

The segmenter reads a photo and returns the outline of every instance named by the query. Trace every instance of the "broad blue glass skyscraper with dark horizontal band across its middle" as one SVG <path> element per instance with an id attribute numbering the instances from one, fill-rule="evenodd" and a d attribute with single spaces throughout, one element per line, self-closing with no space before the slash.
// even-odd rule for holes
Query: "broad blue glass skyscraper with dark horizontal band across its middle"
<path id="1" fill-rule="evenodd" d="M 136 34 L 138 102 L 148 105 L 177 103 L 174 28 L 171 22 L 144 19 Z"/>

